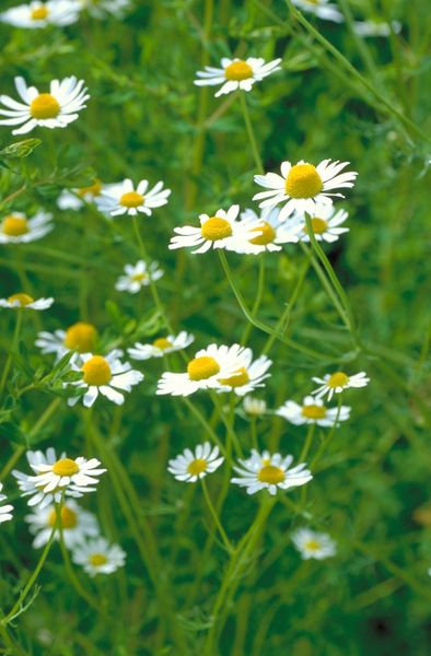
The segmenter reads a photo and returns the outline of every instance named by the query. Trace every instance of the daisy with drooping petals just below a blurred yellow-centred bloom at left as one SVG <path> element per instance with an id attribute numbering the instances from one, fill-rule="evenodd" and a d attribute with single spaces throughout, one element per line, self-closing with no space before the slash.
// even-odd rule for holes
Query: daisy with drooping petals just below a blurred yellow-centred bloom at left
<path id="1" fill-rule="evenodd" d="M 85 389 L 83 403 L 91 408 L 100 394 L 109 401 L 120 406 L 124 403 L 124 391 L 130 391 L 133 385 L 143 380 L 143 374 L 131 368 L 128 362 L 121 362 L 123 351 L 110 351 L 106 356 L 83 353 L 79 365 L 72 363 L 75 371 L 83 373 L 82 380 L 70 383 L 80 389 Z M 80 397 L 69 399 L 69 406 L 74 406 Z"/>

